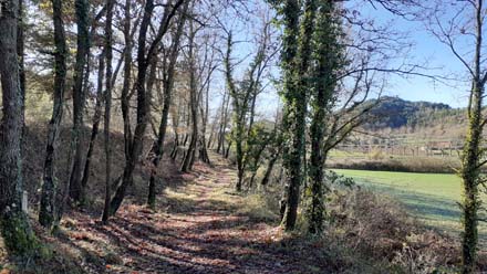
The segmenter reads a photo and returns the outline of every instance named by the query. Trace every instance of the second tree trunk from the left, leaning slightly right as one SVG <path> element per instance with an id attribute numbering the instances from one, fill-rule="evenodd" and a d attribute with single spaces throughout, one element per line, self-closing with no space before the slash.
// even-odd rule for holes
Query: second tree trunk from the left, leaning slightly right
<path id="1" fill-rule="evenodd" d="M 64 23 L 62 14 L 62 1 L 52 0 L 53 22 L 54 22 L 54 105 L 52 117 L 49 122 L 48 145 L 45 147 L 45 159 L 43 170 L 43 183 L 41 189 L 41 204 L 39 209 L 39 222 L 45 228 L 52 228 L 56 220 L 55 204 L 58 183 L 54 172 L 54 158 L 58 146 L 59 127 L 63 116 L 63 99 L 66 82 L 66 56 L 68 48 L 64 34 Z"/>

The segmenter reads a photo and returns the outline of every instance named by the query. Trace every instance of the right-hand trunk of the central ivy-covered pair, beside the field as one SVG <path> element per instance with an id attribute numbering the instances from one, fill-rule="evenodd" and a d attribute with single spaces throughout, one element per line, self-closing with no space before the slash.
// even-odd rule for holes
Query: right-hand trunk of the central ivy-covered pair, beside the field
<path id="1" fill-rule="evenodd" d="M 322 1 L 318 9 L 317 28 L 313 35 L 313 63 L 311 110 L 312 120 L 310 128 L 311 156 L 309 165 L 309 187 L 311 193 L 308 209 L 309 232 L 320 233 L 323 230 L 325 204 L 323 197 L 324 162 L 327 151 L 324 149 L 324 135 L 327 113 L 330 113 L 336 86 L 336 74 L 340 70 L 341 46 L 340 23 L 336 19 L 336 10 L 331 1 Z"/>

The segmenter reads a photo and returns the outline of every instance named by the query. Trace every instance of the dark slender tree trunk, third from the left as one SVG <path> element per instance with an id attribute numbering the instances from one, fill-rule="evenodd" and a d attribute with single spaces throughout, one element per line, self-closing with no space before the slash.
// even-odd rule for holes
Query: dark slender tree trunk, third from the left
<path id="1" fill-rule="evenodd" d="M 73 128 L 71 131 L 71 162 L 70 162 L 70 197 L 75 202 L 83 202 L 84 190 L 81 185 L 83 171 L 83 112 L 85 105 L 85 94 L 83 89 L 84 67 L 86 65 L 87 52 L 90 48 L 89 34 L 89 2 L 87 0 L 75 1 L 75 14 L 77 25 L 77 50 L 76 62 L 74 64 L 74 85 L 73 85 Z"/>

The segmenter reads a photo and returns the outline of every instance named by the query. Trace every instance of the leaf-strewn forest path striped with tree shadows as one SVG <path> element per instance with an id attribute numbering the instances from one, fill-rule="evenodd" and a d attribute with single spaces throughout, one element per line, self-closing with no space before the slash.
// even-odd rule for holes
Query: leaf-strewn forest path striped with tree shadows
<path id="1" fill-rule="evenodd" d="M 251 208 L 232 193 L 234 167 L 214 165 L 180 175 L 160 196 L 158 212 L 125 205 L 108 225 L 76 218 L 70 238 L 92 272 L 323 273 L 325 260 L 310 254 L 312 246 L 286 236 L 276 221 L 252 213 L 258 203 Z"/>

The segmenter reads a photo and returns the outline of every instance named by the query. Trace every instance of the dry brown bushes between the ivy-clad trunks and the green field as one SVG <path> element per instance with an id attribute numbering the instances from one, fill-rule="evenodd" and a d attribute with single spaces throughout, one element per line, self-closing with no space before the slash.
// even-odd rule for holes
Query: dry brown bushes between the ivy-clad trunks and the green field
<path id="1" fill-rule="evenodd" d="M 358 253 L 404 273 L 448 273 L 459 264 L 459 242 L 424 229 L 387 197 L 354 189 L 330 196 L 330 235 Z"/>

